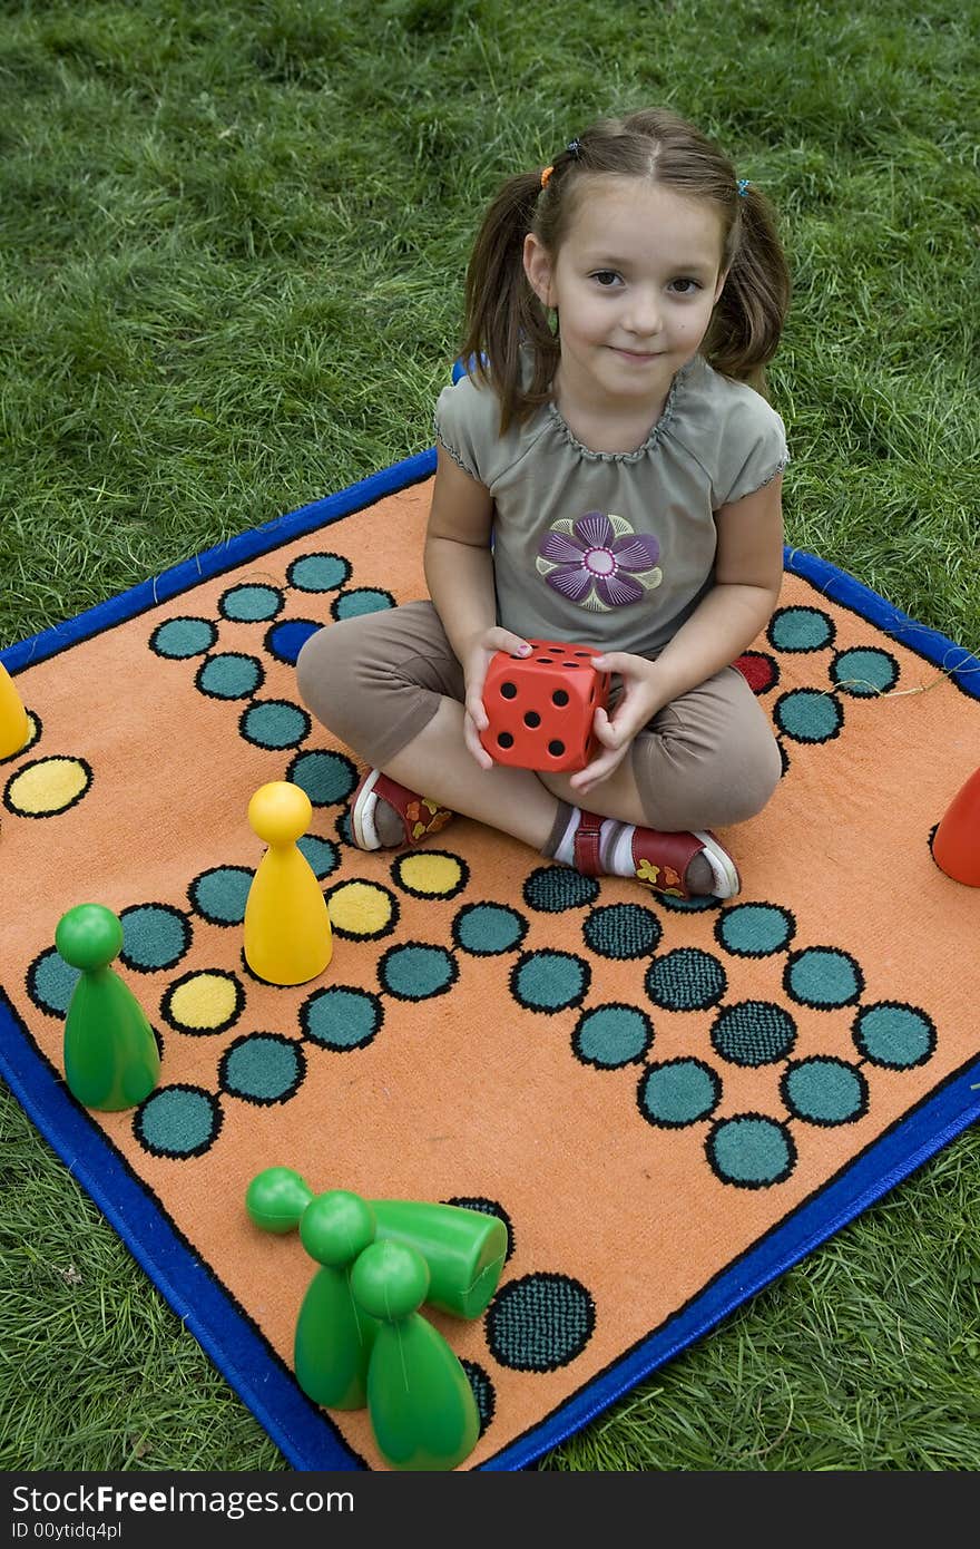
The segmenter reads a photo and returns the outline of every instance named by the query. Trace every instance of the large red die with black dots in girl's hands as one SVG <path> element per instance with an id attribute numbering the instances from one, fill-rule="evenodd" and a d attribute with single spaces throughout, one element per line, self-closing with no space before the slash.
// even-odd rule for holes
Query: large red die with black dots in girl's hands
<path id="1" fill-rule="evenodd" d="M 596 739 L 599 705 L 608 702 L 608 672 L 599 672 L 587 646 L 531 640 L 529 657 L 497 651 L 483 685 L 489 726 L 480 742 L 497 764 L 523 770 L 585 768 Z"/>

